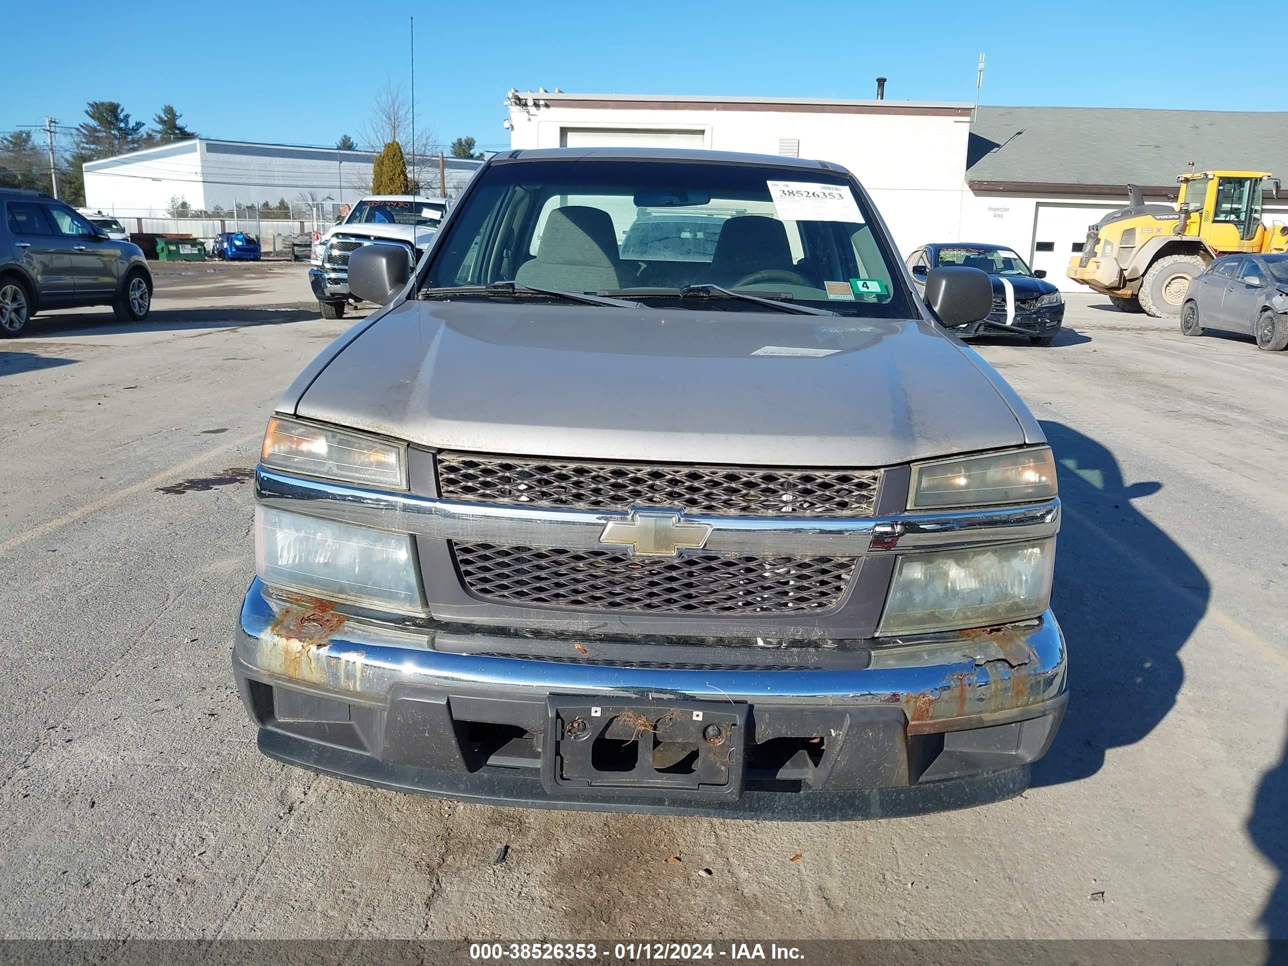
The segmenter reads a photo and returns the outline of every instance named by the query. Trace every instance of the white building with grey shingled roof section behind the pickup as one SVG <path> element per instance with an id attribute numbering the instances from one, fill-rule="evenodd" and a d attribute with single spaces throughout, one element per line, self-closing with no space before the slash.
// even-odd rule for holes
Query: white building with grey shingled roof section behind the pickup
<path id="1" fill-rule="evenodd" d="M 689 147 L 835 161 L 873 196 L 903 251 L 1007 245 L 1061 289 L 1087 227 L 1176 197 L 1176 175 L 1275 171 L 1288 184 L 1288 112 L 979 107 L 961 102 L 567 94 L 511 90 L 510 147 Z M 1288 222 L 1288 192 L 1266 198 Z"/>

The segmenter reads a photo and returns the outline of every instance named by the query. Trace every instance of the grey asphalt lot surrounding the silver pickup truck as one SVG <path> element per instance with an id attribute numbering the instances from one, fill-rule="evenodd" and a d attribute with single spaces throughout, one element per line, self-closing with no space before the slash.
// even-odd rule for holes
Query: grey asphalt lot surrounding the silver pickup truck
<path id="1" fill-rule="evenodd" d="M 523 811 L 256 751 L 229 670 L 250 471 L 348 321 L 300 267 L 205 268 L 155 322 L 59 313 L 0 344 L 0 935 L 1288 938 L 1288 353 L 1083 296 L 1054 346 L 978 344 L 1065 501 L 1072 697 L 1020 797 Z"/>

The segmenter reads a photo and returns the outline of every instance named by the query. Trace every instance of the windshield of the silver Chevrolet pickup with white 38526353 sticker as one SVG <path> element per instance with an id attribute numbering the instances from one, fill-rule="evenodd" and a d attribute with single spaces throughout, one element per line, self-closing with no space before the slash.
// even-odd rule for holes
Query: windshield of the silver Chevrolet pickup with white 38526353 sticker
<path id="1" fill-rule="evenodd" d="M 822 169 L 684 161 L 515 161 L 488 167 L 424 287 L 514 282 L 650 305 L 720 286 L 842 316 L 907 318 L 889 242 L 848 179 Z"/>

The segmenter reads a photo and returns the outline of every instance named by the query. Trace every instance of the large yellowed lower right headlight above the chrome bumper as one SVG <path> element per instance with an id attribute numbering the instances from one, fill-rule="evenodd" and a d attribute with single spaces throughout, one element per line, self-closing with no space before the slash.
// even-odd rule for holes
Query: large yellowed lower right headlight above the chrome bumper
<path id="1" fill-rule="evenodd" d="M 1051 600 L 1055 537 L 899 558 L 877 635 L 988 627 L 1037 617 Z"/>

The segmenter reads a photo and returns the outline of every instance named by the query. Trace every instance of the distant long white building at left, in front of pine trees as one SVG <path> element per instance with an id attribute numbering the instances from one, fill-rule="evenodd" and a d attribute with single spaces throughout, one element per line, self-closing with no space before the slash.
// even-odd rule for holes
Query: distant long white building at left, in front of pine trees
<path id="1" fill-rule="evenodd" d="M 157 218 L 176 201 L 194 211 L 234 205 L 316 205 L 330 219 L 341 204 L 370 192 L 375 153 L 290 144 L 250 144 L 193 138 L 85 165 L 85 204 L 118 218 Z M 410 160 L 408 160 L 410 161 Z M 443 180 L 459 191 L 480 161 L 448 157 Z M 438 157 L 416 158 L 426 194 L 439 193 Z"/>

